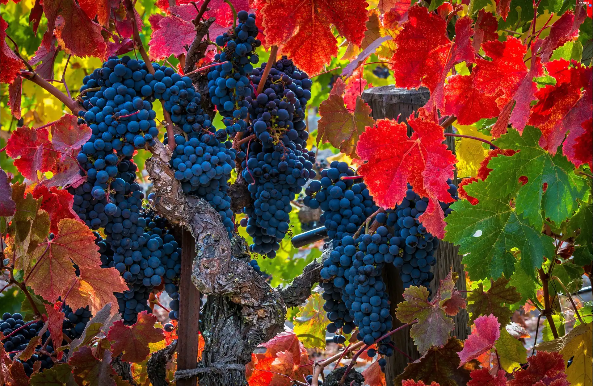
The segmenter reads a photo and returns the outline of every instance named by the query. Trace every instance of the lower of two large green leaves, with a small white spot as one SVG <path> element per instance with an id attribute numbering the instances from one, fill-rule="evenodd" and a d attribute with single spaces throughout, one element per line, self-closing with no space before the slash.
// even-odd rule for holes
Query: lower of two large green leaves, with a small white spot
<path id="1" fill-rule="evenodd" d="M 531 227 L 512 207 L 511 197 L 492 197 L 488 182 L 476 181 L 464 189 L 480 202 L 451 205 L 445 241 L 460 245 L 471 279 L 510 277 L 517 262 L 514 249 L 521 251 L 522 268 L 535 277 L 534 268 L 541 266 L 544 256 L 554 256 L 553 239 Z"/>

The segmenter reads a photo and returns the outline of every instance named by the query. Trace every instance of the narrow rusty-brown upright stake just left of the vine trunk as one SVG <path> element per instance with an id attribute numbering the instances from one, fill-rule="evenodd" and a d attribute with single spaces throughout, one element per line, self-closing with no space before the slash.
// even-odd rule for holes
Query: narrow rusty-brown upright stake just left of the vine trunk
<path id="1" fill-rule="evenodd" d="M 192 283 L 196 257 L 192 233 L 181 231 L 181 278 L 179 282 L 179 321 L 177 324 L 177 370 L 195 369 L 197 364 L 200 292 Z M 177 386 L 196 386 L 197 377 L 179 379 Z"/>

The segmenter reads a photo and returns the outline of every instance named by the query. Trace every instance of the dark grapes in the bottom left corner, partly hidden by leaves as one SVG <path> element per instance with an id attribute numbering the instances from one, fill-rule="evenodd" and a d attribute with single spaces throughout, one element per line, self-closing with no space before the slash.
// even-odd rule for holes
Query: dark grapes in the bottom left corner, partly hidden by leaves
<path id="1" fill-rule="evenodd" d="M 61 311 L 65 314 L 65 319 L 63 320 L 62 326 L 63 334 L 69 337 L 71 340 L 81 337 L 88 321 L 91 319 L 91 311 L 88 310 L 88 306 L 84 308 L 78 308 L 78 310 L 73 311 L 68 305 L 63 305 Z M 17 352 L 24 350 L 27 347 L 29 341 L 34 336 L 39 335 L 39 332 L 43 328 L 44 322 L 40 320 L 28 325 L 26 324 L 27 322 L 23 320 L 23 316 L 20 313 L 4 313 L 2 315 L 2 320 L 0 321 L 0 331 L 5 336 L 5 338 L 2 340 L 2 343 L 4 344 L 4 349 L 8 352 L 8 355 L 11 359 L 14 358 Z M 51 368 L 54 365 L 49 355 L 39 352 L 39 350 L 44 345 L 44 350 L 47 353 L 53 353 L 55 352 L 55 348 L 68 343 L 63 340 L 58 344 L 52 342 L 46 345 L 46 340 L 49 337 L 49 330 L 46 330 L 46 332 L 42 335 L 40 345 L 36 347 L 36 351 L 33 353 L 33 355 L 31 355 L 31 358 L 27 359 L 27 361 L 16 359 L 16 361 L 19 361 L 23 364 L 25 374 L 27 374 L 28 377 L 33 374 L 34 362 L 39 361 L 41 365 L 40 369 L 42 370 Z M 66 352 L 68 352 L 67 349 Z"/>

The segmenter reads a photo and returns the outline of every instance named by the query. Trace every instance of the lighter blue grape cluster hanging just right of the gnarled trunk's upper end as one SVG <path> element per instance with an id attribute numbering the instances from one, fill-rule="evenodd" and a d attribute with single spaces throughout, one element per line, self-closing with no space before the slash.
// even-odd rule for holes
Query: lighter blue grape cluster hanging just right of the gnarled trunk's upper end
<path id="1" fill-rule="evenodd" d="M 181 181 L 181 188 L 186 194 L 195 194 L 204 198 L 221 215 L 222 223 L 230 234 L 235 223 L 231 211 L 231 198 L 228 197 L 228 181 L 235 159 L 244 156 L 232 148 L 227 133 L 197 131 L 183 136 L 175 136 L 176 147 L 170 165 L 175 171 L 175 178 Z M 219 130 L 220 131 L 220 130 Z M 222 136 L 221 136 L 222 134 Z M 187 139 L 186 139 L 187 137 Z M 165 138 L 164 143 L 168 142 Z"/>

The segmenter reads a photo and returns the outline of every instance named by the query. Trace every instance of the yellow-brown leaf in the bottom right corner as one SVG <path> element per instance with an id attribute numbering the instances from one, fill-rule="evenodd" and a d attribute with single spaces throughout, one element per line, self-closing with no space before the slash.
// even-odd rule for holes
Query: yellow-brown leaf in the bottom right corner
<path id="1" fill-rule="evenodd" d="M 542 342 L 536 350 L 557 351 L 562 354 L 566 365 L 572 358 L 572 364 L 566 369 L 567 380 L 572 386 L 593 384 L 593 323 L 579 324 L 565 336 Z"/>

